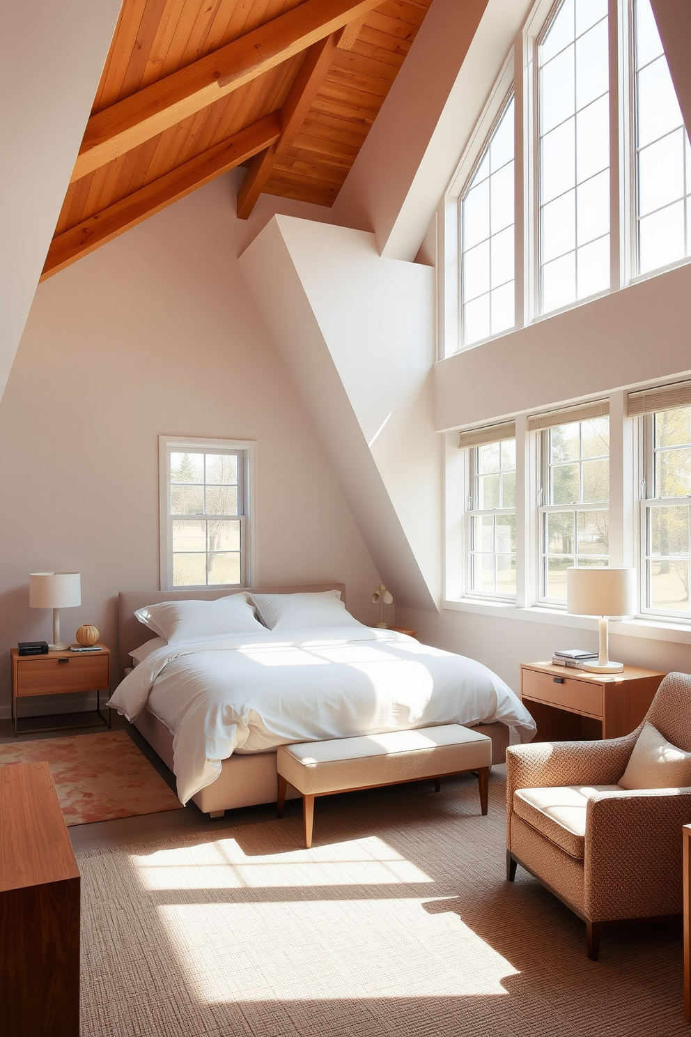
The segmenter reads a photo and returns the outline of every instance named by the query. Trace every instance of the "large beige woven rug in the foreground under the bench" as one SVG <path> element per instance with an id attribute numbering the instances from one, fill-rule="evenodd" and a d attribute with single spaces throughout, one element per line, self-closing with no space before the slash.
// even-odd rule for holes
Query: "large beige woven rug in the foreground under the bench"
<path id="1" fill-rule="evenodd" d="M 80 854 L 82 1037 L 688 1035 L 675 926 L 583 923 L 505 880 L 503 768 Z"/>

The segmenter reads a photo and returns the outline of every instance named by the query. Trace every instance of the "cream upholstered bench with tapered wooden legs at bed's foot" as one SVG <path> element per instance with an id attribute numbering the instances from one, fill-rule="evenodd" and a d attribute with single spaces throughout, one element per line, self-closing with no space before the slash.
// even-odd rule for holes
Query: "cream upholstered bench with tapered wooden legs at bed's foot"
<path id="1" fill-rule="evenodd" d="M 278 814 L 283 817 L 290 784 L 303 795 L 305 844 L 309 849 L 316 796 L 424 778 L 434 778 L 438 791 L 442 778 L 464 770 L 477 770 L 480 806 L 486 814 L 491 762 L 492 739 L 460 724 L 279 746 Z"/>

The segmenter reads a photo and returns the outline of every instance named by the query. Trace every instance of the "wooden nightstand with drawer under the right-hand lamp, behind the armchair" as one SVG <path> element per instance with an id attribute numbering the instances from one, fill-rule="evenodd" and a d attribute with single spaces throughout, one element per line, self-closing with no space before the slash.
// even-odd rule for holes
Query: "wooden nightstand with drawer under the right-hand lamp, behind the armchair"
<path id="1" fill-rule="evenodd" d="M 538 724 L 534 740 L 630 734 L 647 712 L 664 676 L 633 666 L 604 675 L 551 663 L 521 663 L 521 699 Z"/>

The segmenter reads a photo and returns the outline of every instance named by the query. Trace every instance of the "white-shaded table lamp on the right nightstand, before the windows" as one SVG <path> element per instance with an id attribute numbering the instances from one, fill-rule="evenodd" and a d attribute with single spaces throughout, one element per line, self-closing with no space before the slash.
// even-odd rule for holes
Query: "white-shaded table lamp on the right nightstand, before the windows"
<path id="1" fill-rule="evenodd" d="M 589 673 L 621 673 L 624 663 L 609 662 L 609 616 L 633 616 L 636 601 L 636 570 L 616 568 L 568 568 L 567 612 L 600 617 L 600 657 L 583 666 Z"/>

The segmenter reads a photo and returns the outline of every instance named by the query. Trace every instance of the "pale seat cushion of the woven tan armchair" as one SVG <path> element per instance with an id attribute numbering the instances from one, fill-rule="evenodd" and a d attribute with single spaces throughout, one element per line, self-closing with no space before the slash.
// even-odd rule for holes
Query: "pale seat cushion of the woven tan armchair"
<path id="1" fill-rule="evenodd" d="M 570 857 L 585 856 L 585 809 L 596 792 L 622 792 L 620 785 L 562 785 L 519 788 L 514 812 Z"/>

